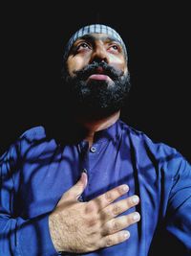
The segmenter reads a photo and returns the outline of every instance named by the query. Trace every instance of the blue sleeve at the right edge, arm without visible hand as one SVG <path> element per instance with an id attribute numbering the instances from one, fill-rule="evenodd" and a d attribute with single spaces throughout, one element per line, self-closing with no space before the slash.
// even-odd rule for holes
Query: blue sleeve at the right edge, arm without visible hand
<path id="1" fill-rule="evenodd" d="M 165 229 L 166 245 L 172 244 L 181 255 L 191 255 L 191 166 L 182 157 L 174 160 L 171 170 L 178 170 L 169 195 Z"/>

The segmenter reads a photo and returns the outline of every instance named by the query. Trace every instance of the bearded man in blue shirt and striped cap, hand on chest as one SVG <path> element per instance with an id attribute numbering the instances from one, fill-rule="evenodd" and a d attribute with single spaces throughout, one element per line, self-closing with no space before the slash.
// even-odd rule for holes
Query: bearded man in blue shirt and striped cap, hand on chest
<path id="1" fill-rule="evenodd" d="M 77 31 L 62 79 L 67 134 L 32 128 L 1 157 L 0 255 L 191 255 L 189 163 L 119 119 L 130 89 L 120 35 Z"/>

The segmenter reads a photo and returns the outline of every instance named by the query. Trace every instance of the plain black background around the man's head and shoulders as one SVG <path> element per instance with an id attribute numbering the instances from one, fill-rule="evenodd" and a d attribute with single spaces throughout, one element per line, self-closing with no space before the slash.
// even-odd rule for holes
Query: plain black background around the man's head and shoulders
<path id="1" fill-rule="evenodd" d="M 142 2 L 2 9 L 1 153 L 25 129 L 49 118 L 64 44 L 76 29 L 100 22 L 116 29 L 128 47 L 132 89 L 122 119 L 191 161 L 189 8 L 179 1 Z"/>

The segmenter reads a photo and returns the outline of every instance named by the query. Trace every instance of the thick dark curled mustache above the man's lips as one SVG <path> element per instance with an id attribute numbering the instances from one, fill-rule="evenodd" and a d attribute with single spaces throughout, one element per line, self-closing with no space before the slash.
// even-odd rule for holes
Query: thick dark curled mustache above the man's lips
<path id="1" fill-rule="evenodd" d="M 100 74 L 107 75 L 112 80 L 116 80 L 119 77 L 123 76 L 123 71 L 108 65 L 106 62 L 96 62 L 85 66 L 81 70 L 74 71 L 74 74 L 79 80 L 87 80 L 91 75 L 97 73 L 97 69 L 102 68 L 102 72 Z"/>

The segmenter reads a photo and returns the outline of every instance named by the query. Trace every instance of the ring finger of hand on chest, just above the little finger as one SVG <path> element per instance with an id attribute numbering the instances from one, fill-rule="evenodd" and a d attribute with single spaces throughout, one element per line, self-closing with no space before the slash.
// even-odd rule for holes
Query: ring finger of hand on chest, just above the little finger
<path id="1" fill-rule="evenodd" d="M 103 225 L 102 235 L 115 234 L 118 231 L 127 228 L 128 226 L 138 222 L 140 220 L 140 215 L 138 212 L 131 213 L 126 216 L 121 216 L 111 221 L 106 222 Z"/>

